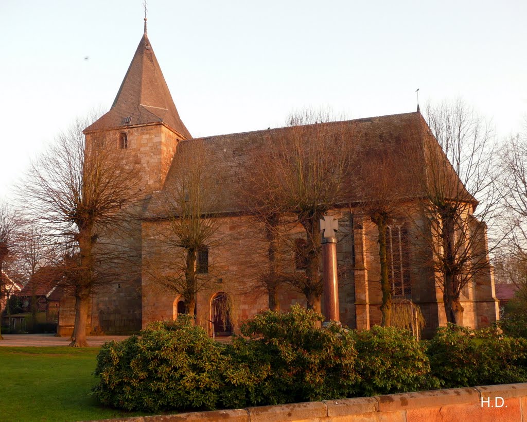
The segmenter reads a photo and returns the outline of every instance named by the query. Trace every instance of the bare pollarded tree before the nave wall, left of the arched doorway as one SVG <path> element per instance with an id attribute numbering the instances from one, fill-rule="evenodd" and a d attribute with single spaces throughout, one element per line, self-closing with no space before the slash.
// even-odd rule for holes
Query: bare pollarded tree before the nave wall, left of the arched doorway
<path id="1" fill-rule="evenodd" d="M 216 235 L 221 218 L 215 215 L 221 190 L 203 141 L 182 141 L 174 160 L 173 173 L 157 199 L 152 231 L 157 242 L 144 259 L 144 270 L 181 295 L 186 313 L 194 315 L 198 292 L 221 275 L 208 262 L 209 253 L 221 243 Z"/>

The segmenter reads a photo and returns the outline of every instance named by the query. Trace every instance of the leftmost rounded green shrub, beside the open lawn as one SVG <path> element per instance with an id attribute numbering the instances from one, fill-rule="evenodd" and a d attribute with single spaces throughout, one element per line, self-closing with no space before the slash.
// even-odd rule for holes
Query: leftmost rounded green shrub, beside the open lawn
<path id="1" fill-rule="evenodd" d="M 105 344 L 97 356 L 102 404 L 126 410 L 213 409 L 221 378 L 221 348 L 190 318 L 157 323 L 121 342 Z"/>

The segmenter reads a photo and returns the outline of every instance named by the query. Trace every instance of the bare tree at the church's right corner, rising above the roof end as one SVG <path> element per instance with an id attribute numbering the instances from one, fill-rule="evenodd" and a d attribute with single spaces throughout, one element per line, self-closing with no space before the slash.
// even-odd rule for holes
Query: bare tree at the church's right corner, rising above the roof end
<path id="1" fill-rule="evenodd" d="M 424 217 L 419 229 L 426 240 L 421 259 L 440 274 L 447 321 L 462 325 L 460 295 L 490 267 L 486 222 L 499 203 L 494 137 L 462 100 L 429 103 L 426 119 L 435 139 L 425 138 L 423 151 L 413 155 L 426 169 L 415 175 L 414 196 L 422 199 Z"/>

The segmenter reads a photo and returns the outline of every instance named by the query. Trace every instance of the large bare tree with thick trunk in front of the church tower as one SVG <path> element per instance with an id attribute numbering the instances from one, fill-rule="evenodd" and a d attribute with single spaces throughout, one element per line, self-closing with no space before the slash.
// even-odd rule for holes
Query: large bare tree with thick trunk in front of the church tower
<path id="1" fill-rule="evenodd" d="M 90 296 L 112 278 L 111 265 L 104 264 L 110 253 L 96 245 L 122 227 L 125 210 L 138 194 L 133 156 L 119 149 L 113 132 L 94 131 L 90 144 L 85 143 L 82 130 L 92 120 L 77 120 L 58 135 L 32 163 L 20 192 L 31 204 L 28 213 L 54 243 L 75 251 L 68 270 L 75 296 L 74 347 L 87 346 Z"/>

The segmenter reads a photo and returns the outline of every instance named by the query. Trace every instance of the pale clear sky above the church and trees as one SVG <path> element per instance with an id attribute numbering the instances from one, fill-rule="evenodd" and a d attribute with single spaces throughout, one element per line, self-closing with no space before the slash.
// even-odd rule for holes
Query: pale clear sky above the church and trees
<path id="1" fill-rule="evenodd" d="M 194 137 L 462 95 L 505 137 L 527 113 L 527 2 L 150 0 L 148 34 Z M 0 197 L 76 116 L 108 110 L 141 0 L 0 0 Z M 85 57 L 87 60 L 85 60 Z"/>

